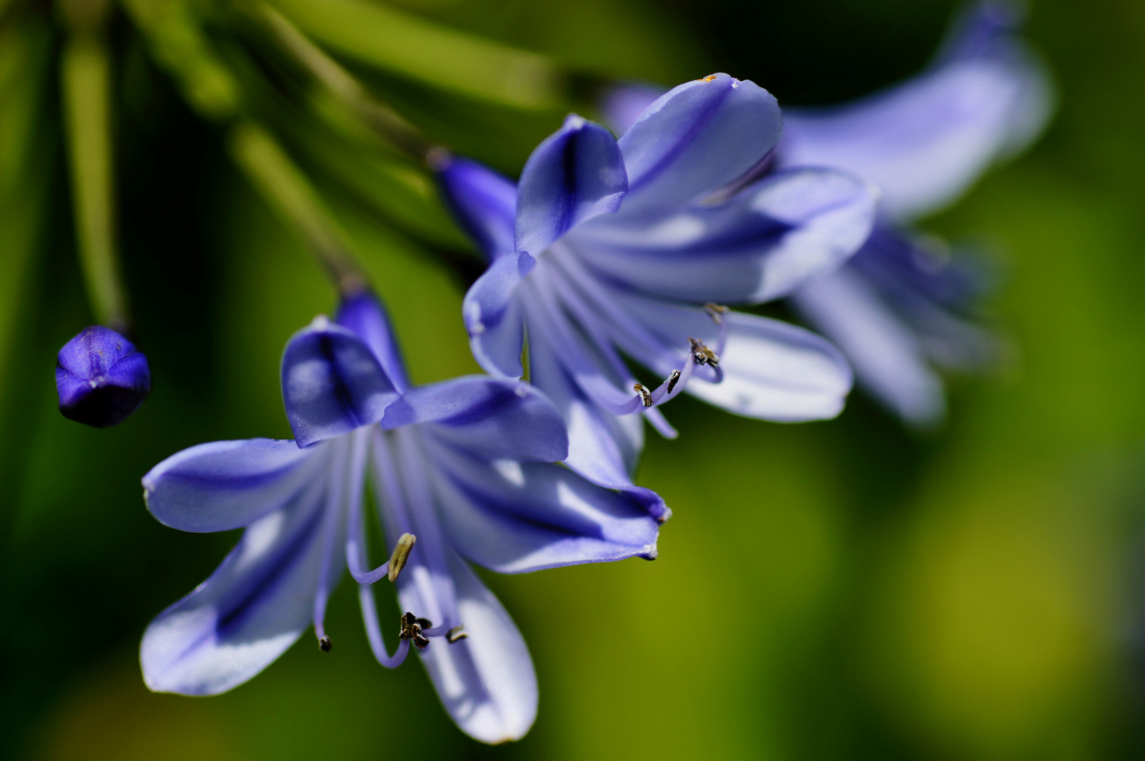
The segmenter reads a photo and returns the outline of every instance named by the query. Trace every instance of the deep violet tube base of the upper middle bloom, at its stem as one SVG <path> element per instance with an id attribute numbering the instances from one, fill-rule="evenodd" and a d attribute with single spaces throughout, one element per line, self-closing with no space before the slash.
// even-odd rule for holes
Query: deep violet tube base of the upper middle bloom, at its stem
<path id="1" fill-rule="evenodd" d="M 437 171 L 445 203 L 492 261 L 515 251 L 516 185 L 476 161 L 451 157 Z"/>

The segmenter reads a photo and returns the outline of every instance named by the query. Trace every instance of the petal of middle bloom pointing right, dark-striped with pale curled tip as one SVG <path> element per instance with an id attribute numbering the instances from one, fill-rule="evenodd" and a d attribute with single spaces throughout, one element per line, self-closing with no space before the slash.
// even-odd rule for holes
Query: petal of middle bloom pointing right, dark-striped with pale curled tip
<path id="1" fill-rule="evenodd" d="M 772 174 L 716 207 L 650 225 L 595 227 L 568 245 L 637 290 L 693 302 L 758 303 L 847 260 L 870 235 L 878 192 L 830 169 Z"/>

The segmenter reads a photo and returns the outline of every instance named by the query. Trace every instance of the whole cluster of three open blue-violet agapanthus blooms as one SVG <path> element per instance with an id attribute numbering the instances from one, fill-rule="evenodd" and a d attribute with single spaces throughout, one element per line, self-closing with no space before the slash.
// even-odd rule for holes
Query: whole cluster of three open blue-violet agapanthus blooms
<path id="1" fill-rule="evenodd" d="M 442 195 L 487 259 L 463 318 L 489 374 L 411 386 L 381 303 L 341 283 L 335 318 L 315 318 L 283 355 L 293 439 L 203 444 L 143 478 L 166 525 L 245 529 L 148 627 L 147 684 L 229 690 L 310 626 L 330 650 L 326 603 L 348 571 L 382 666 L 412 645 L 464 731 L 523 736 L 537 710 L 529 652 L 471 564 L 519 573 L 654 558 L 671 510 L 633 481 L 643 420 L 674 436 L 661 407 L 684 393 L 763 420 L 832 418 L 853 365 L 925 423 L 942 410 L 930 363 L 989 354 L 993 339 L 964 316 L 977 279 L 905 225 L 1044 122 L 1047 80 L 1011 27 L 1000 7 L 979 6 L 921 78 L 790 111 L 785 127 L 771 94 L 720 73 L 614 92 L 619 138 L 569 116 L 516 183 L 434 152 Z M 780 299 L 843 351 L 743 310 Z M 86 370 L 62 352 L 60 372 L 126 388 L 116 379 L 142 355 L 116 346 Z M 82 407 L 95 391 L 72 385 Z M 371 508 L 390 550 L 377 566 Z M 402 610 L 388 627 L 373 593 L 382 579 Z"/>

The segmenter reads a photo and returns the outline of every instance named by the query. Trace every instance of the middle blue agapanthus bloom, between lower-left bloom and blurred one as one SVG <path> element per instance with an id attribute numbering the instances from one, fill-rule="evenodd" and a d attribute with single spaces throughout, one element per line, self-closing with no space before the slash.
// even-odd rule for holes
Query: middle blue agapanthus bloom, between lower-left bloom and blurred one
<path id="1" fill-rule="evenodd" d="M 876 191 L 834 169 L 741 182 L 774 149 L 775 98 L 727 74 L 643 109 L 617 141 L 577 116 L 530 156 L 520 182 L 465 159 L 440 179 L 489 257 L 464 302 L 474 356 L 529 381 L 569 427 L 568 465 L 639 496 L 629 474 L 643 415 L 687 390 L 766 420 L 836 415 L 851 370 L 827 341 L 728 311 L 788 295 L 851 256 Z M 640 385 L 626 362 L 655 374 Z M 643 496 L 654 515 L 662 504 Z"/>

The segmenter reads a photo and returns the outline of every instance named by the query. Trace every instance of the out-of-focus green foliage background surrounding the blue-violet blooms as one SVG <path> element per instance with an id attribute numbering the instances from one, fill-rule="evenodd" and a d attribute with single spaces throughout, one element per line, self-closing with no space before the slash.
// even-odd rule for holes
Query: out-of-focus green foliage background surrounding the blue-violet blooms
<path id="1" fill-rule="evenodd" d="M 380 102 L 515 173 L 564 111 L 591 113 L 607 78 L 725 70 L 781 104 L 852 97 L 917 70 L 954 8 L 273 6 L 333 74 L 285 50 L 258 3 L 112 13 L 117 215 L 156 390 L 93 430 L 58 414 L 50 380 L 92 319 L 65 35 L 47 3 L 0 2 L 0 756 L 1140 758 L 1145 7 L 1129 0 L 1033 5 L 1058 119 L 927 222 L 1004 252 L 994 317 L 1019 359 L 958 381 L 949 425 L 925 437 L 858 394 L 838 420 L 803 426 L 673 403 L 682 435 L 650 436 L 640 474 L 676 510 L 660 560 L 488 578 L 537 665 L 524 740 L 472 743 L 419 665 L 377 666 L 345 584 L 331 653 L 303 637 L 226 696 L 149 693 L 143 627 L 235 536 L 160 526 L 139 478 L 199 442 L 289 435 L 279 352 L 334 298 L 314 247 L 361 263 L 414 381 L 476 370 L 459 319 L 466 244 L 376 128 Z M 338 89 L 339 71 L 366 100 Z"/>

